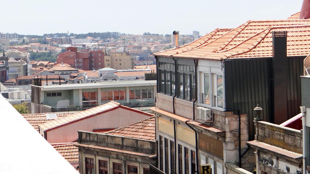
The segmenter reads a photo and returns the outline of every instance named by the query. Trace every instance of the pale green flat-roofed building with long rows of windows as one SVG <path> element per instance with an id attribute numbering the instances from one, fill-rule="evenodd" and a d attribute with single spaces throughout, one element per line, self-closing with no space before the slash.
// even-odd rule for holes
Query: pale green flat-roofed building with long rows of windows
<path id="1" fill-rule="evenodd" d="M 42 81 L 43 82 L 43 81 Z M 64 85 L 31 85 L 32 113 L 81 111 L 111 100 L 128 107 L 153 106 L 156 80 L 97 81 Z"/>

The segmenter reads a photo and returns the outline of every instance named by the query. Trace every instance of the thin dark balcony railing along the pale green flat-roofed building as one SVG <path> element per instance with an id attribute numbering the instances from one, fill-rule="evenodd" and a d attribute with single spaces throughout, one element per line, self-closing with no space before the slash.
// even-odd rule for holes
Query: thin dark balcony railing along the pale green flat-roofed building
<path id="1" fill-rule="evenodd" d="M 150 110 L 151 107 L 155 107 L 155 101 L 120 102 L 120 104 L 139 111 L 147 111 Z M 84 111 L 100 105 L 102 104 L 54 106 L 52 107 L 52 112 Z"/>

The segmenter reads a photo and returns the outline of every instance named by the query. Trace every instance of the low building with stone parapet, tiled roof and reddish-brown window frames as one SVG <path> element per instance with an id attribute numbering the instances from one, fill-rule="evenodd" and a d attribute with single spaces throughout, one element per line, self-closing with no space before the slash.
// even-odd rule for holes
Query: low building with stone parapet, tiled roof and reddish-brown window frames
<path id="1" fill-rule="evenodd" d="M 149 174 L 149 164 L 156 163 L 154 117 L 107 133 L 78 134 L 81 174 Z"/>

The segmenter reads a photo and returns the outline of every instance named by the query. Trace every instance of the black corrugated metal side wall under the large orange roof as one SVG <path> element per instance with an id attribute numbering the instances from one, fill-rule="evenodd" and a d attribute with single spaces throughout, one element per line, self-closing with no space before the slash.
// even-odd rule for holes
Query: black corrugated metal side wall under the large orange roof
<path id="1" fill-rule="evenodd" d="M 304 57 L 289 58 L 288 115 L 297 115 L 301 105 L 300 75 L 303 75 Z M 273 122 L 272 59 L 243 59 L 224 62 L 226 109 L 240 109 L 248 115 L 250 140 L 254 139 L 253 109 L 259 104 L 263 108 L 261 117 Z M 289 119 L 287 118 L 287 119 Z"/>

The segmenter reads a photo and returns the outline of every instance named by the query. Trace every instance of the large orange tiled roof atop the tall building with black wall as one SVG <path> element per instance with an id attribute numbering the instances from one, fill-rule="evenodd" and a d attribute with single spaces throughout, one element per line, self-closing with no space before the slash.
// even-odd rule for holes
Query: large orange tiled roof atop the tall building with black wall
<path id="1" fill-rule="evenodd" d="M 155 55 L 215 60 L 271 57 L 272 31 L 287 31 L 287 56 L 307 56 L 310 51 L 310 20 L 297 20 L 295 17 L 247 21 L 193 49 L 166 50 Z"/>

